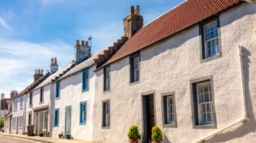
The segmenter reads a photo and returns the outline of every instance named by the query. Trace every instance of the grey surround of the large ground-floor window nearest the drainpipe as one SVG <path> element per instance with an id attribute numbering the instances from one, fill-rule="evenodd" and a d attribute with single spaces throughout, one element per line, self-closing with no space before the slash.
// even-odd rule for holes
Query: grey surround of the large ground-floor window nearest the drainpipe
<path id="1" fill-rule="evenodd" d="M 198 114 L 198 101 L 197 101 L 197 86 L 196 84 L 210 81 L 211 83 L 211 95 L 212 95 L 212 119 L 213 124 L 199 124 L 199 114 Z M 216 112 L 215 112 L 215 96 L 214 96 L 214 85 L 213 76 L 201 77 L 198 79 L 190 80 L 190 93 L 191 93 L 191 109 L 192 109 L 192 122 L 194 129 L 210 129 L 217 128 Z"/>

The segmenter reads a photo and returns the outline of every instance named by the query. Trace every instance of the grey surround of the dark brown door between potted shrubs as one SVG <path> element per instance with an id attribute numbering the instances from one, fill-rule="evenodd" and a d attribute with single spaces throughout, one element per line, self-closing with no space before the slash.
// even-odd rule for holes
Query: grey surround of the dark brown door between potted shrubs
<path id="1" fill-rule="evenodd" d="M 141 108 L 142 108 L 142 143 L 147 141 L 147 124 L 146 124 L 146 96 L 153 95 L 154 98 L 154 125 L 156 125 L 156 108 L 155 108 L 155 90 L 141 93 Z"/>

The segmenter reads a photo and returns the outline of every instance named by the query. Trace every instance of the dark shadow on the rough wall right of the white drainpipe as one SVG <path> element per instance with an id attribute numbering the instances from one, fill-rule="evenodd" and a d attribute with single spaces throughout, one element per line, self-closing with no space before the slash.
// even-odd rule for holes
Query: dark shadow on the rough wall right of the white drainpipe
<path id="1" fill-rule="evenodd" d="M 255 48 L 256 48 L 256 40 L 254 40 L 250 45 L 250 49 L 255 49 Z M 249 56 L 251 56 L 251 53 L 245 47 L 243 47 L 244 86 L 245 86 L 245 98 L 246 98 L 246 105 L 247 105 L 249 120 L 245 121 L 243 125 L 241 125 L 239 128 L 237 128 L 234 131 L 229 131 L 223 134 L 219 134 L 213 137 L 212 139 L 207 140 L 206 141 L 207 143 L 227 142 L 231 139 L 243 137 L 244 135 L 247 135 L 250 132 L 256 133 L 256 120 L 253 112 L 253 105 L 252 105 L 252 99 L 251 99 L 251 96 L 253 97 L 253 93 L 250 93 L 250 89 L 249 89 L 249 79 L 250 79 L 249 63 L 251 63 Z"/>

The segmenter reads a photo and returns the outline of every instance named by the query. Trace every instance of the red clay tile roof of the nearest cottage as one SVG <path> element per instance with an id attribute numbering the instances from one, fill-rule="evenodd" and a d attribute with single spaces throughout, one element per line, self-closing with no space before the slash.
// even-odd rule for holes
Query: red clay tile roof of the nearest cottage
<path id="1" fill-rule="evenodd" d="M 212 15 L 240 4 L 242 1 L 187 0 L 138 30 L 103 66 L 175 35 Z"/>

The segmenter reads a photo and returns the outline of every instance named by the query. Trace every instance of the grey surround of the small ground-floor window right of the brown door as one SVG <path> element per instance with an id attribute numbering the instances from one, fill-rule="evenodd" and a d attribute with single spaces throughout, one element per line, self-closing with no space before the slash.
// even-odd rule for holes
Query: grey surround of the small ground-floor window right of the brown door
<path id="1" fill-rule="evenodd" d="M 174 106 L 174 123 L 167 123 L 167 98 L 173 98 Z M 176 114 L 176 103 L 175 103 L 175 92 L 161 93 L 162 99 L 162 119 L 163 119 L 163 128 L 177 128 L 177 114 Z"/>

